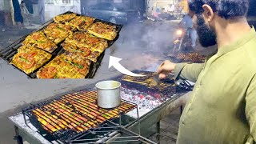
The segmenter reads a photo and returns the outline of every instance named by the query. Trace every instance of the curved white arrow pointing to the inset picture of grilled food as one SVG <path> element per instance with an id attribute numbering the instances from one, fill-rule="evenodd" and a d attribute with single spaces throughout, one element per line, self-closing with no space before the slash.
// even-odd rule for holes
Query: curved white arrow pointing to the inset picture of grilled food
<path id="1" fill-rule="evenodd" d="M 125 67 L 123 67 L 119 62 L 122 60 L 122 58 L 116 58 L 113 56 L 110 56 L 110 63 L 109 63 L 109 68 L 113 66 L 116 70 L 121 72 L 122 74 L 130 75 L 133 77 L 144 77 L 145 75 L 141 74 L 134 74 L 133 72 L 127 70 Z"/>

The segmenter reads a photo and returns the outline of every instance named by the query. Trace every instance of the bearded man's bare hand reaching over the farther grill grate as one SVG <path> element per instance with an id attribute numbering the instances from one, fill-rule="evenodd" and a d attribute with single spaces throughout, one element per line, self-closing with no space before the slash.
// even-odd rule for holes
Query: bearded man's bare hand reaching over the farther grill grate
<path id="1" fill-rule="evenodd" d="M 159 78 L 163 79 L 168 76 L 168 74 L 172 73 L 175 69 L 176 63 L 165 61 L 158 67 Z"/>

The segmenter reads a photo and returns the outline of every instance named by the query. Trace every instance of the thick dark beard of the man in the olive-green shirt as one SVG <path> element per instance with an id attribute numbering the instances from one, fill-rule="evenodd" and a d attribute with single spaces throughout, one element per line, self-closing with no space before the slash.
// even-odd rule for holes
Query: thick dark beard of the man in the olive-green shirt
<path id="1" fill-rule="evenodd" d="M 197 27 L 198 39 L 203 47 L 209 47 L 216 45 L 216 33 L 214 30 L 210 30 L 209 26 L 206 26 L 206 22 L 202 17 L 202 14 L 197 14 Z"/>

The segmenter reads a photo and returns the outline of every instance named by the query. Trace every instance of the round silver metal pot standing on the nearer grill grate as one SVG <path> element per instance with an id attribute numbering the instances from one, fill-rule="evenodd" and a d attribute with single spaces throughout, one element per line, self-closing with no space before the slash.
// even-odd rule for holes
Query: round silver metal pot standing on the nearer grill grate
<path id="1" fill-rule="evenodd" d="M 103 81 L 96 84 L 99 107 L 110 109 L 120 105 L 120 86 L 117 81 Z"/>

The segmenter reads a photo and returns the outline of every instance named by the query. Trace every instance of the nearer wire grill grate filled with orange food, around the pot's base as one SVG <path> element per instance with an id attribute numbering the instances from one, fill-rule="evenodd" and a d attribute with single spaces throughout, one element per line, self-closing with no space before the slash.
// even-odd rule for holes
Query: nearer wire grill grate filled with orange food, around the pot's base
<path id="1" fill-rule="evenodd" d="M 66 94 L 49 102 L 30 106 L 22 112 L 38 130 L 45 130 L 66 142 L 137 107 L 122 100 L 121 105 L 114 109 L 102 109 L 96 104 L 96 95 L 94 90 Z"/>

